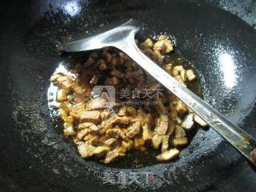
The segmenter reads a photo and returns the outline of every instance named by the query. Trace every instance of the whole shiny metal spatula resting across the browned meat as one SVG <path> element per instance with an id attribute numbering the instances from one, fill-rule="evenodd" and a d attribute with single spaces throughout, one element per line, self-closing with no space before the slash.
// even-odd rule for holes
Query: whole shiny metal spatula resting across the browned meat
<path id="1" fill-rule="evenodd" d="M 153 76 L 166 89 L 170 90 L 182 102 L 186 103 L 194 113 L 198 114 L 205 122 L 226 138 L 232 146 L 240 151 L 256 166 L 256 140 L 244 130 L 230 122 L 226 117 L 214 110 L 192 91 L 176 81 L 170 74 L 147 58 L 138 49 L 134 35 L 140 30 L 138 22 L 130 19 L 114 26 L 100 27 L 98 31 L 88 38 L 58 45 L 58 50 L 78 52 L 95 50 L 106 46 L 114 46 L 134 59 L 147 73 Z"/>

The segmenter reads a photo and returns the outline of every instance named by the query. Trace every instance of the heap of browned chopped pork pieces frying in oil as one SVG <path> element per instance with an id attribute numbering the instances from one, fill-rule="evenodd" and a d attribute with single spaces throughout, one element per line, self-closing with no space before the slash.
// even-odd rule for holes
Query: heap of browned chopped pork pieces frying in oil
<path id="1" fill-rule="evenodd" d="M 162 66 L 178 82 L 196 78 L 193 70 L 165 62 L 174 44 L 166 35 L 158 40 L 147 38 L 141 44 L 142 51 Z M 93 70 L 88 70 L 90 66 Z M 166 162 L 178 157 L 179 148 L 186 146 L 186 131 L 194 128 L 194 122 L 206 126 L 198 115 L 144 72 L 121 51 L 106 47 L 94 52 L 85 64 L 78 64 L 71 74 L 54 74 L 50 81 L 58 86 L 58 116 L 64 121 L 64 134 L 72 135 L 82 158 L 100 158 L 104 163 L 123 158 L 129 150 L 146 150 L 146 146 L 161 149 L 156 157 Z M 115 86 L 116 102 L 92 97 L 93 86 Z M 122 90 L 137 90 L 137 98 L 154 102 L 154 105 L 134 104 L 136 97 L 122 94 Z M 142 96 L 142 91 L 158 94 L 158 98 Z M 120 97 L 118 97 L 120 95 Z M 124 102 L 131 102 L 126 104 Z"/>

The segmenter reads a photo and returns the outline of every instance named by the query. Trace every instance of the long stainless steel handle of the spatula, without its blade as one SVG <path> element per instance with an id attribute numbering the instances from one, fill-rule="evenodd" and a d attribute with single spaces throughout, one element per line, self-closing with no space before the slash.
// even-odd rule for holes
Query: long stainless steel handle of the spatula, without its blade
<path id="1" fill-rule="evenodd" d="M 158 82 L 170 90 L 182 102 L 186 103 L 194 113 L 198 114 L 205 122 L 226 138 L 232 146 L 239 150 L 246 158 L 256 166 L 256 140 L 247 134 L 244 130 L 230 122 L 225 116 L 220 114 L 218 110 L 214 110 L 212 106 L 204 102 L 192 91 L 186 89 L 181 83 L 176 81 L 165 70 L 156 65 L 147 58 L 134 42 L 134 36 L 130 35 L 122 43 L 115 45 L 118 49 L 124 51 L 142 66 L 150 75 L 152 75 Z"/>

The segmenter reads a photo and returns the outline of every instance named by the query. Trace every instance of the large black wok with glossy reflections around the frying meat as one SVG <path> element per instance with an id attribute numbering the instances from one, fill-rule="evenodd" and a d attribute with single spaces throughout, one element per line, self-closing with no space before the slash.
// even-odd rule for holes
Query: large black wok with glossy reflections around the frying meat
<path id="1" fill-rule="evenodd" d="M 256 34 L 234 15 L 186 1 L 22 1 L 1 9 L 0 173 L 10 189 L 209 191 L 245 161 L 212 129 L 198 130 L 176 162 L 120 169 L 85 161 L 51 124 L 46 98 L 50 75 L 66 61 L 54 45 L 93 26 L 132 17 L 143 23 L 143 37 L 172 35 L 198 72 L 206 102 L 255 136 Z M 148 185 L 124 188 L 102 183 L 102 173 L 121 170 L 153 172 L 154 178 Z M 245 189 L 253 187 L 254 182 Z"/>

